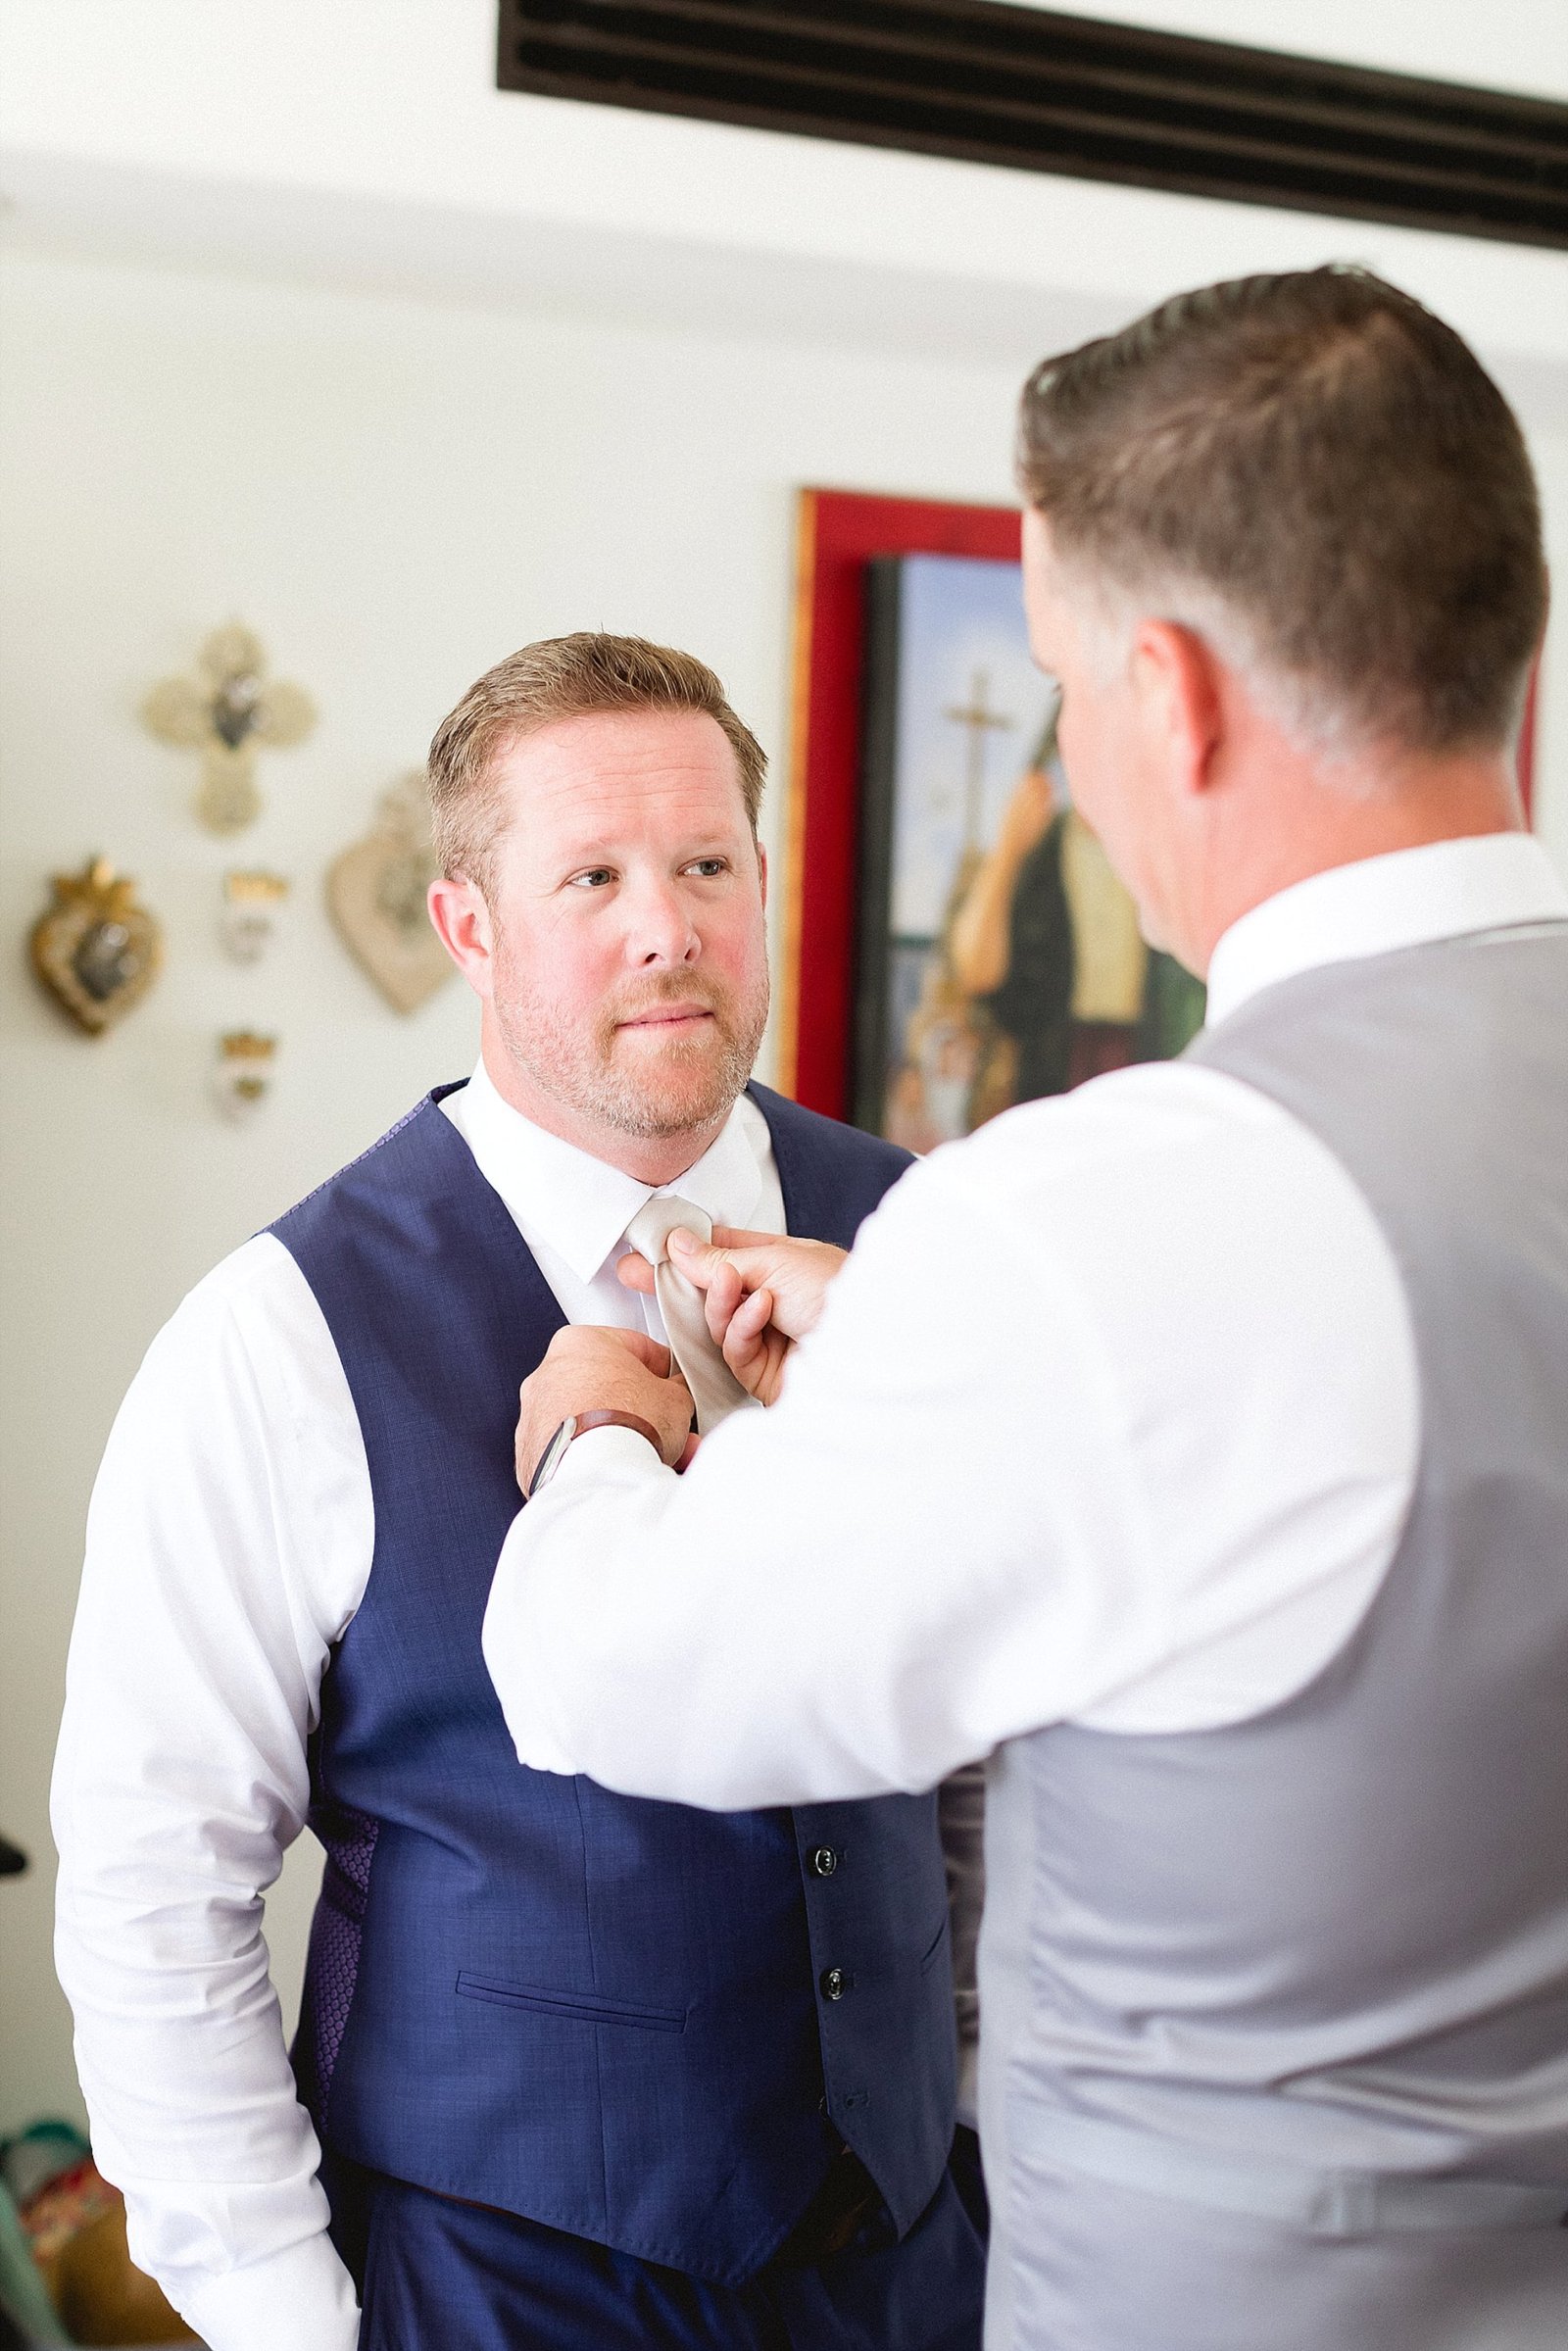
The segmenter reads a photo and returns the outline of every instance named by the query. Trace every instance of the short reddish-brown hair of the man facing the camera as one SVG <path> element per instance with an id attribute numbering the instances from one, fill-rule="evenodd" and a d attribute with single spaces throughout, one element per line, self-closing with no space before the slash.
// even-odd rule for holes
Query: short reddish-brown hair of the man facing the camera
<path id="1" fill-rule="evenodd" d="M 494 846 L 505 830 L 496 792 L 498 755 L 557 719 L 607 710 L 698 710 L 715 719 L 736 755 L 745 816 L 757 832 L 769 762 L 708 663 L 646 637 L 578 630 L 508 654 L 435 729 L 430 839 L 447 877 L 468 875 L 489 889 Z"/>

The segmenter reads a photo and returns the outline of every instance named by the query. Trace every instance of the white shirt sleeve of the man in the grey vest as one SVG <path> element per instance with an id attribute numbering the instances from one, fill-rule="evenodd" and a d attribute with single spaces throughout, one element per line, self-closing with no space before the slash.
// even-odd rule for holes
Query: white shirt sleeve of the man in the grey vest
<path id="1" fill-rule="evenodd" d="M 576 1444 L 484 1653 L 524 1763 L 715 1808 L 933 1787 L 1065 1719 L 1239 1721 L 1359 1622 L 1418 1441 L 1333 1157 L 1215 1072 L 1121 1072 L 905 1176 L 780 1404 L 684 1479 Z"/>

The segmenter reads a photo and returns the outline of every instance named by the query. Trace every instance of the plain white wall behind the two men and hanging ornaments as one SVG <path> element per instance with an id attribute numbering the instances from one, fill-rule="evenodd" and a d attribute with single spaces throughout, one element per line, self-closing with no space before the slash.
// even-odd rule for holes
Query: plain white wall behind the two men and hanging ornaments
<path id="1" fill-rule="evenodd" d="M 364 28 L 381 71 L 346 106 Z M 45 1787 L 92 1469 L 183 1288 L 473 1051 L 456 983 L 409 1023 L 378 1002 L 320 872 L 480 668 L 574 625 L 668 635 L 783 752 L 799 482 L 1004 498 L 1030 357 L 1182 280 L 1338 252 L 1502 362 L 1568 576 L 1563 256 L 501 99 L 489 28 L 489 0 L 5 19 L 0 1827 L 40 1867 L 0 1886 L 0 2130 L 75 2104 Z M 230 614 L 322 705 L 237 844 L 134 717 Z M 1568 851 L 1563 628 L 1552 658 L 1542 820 Z M 47 875 L 94 849 L 169 931 L 101 1041 L 21 955 Z M 296 877 L 254 973 L 214 943 L 230 863 Z M 240 1023 L 282 1034 L 247 1133 L 202 1093 Z M 308 1883 L 284 1886 L 294 1972 Z"/>

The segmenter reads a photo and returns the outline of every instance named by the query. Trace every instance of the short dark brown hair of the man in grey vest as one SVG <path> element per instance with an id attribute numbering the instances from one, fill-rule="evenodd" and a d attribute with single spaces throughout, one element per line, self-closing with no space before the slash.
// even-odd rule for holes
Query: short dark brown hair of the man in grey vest
<path id="1" fill-rule="evenodd" d="M 1519 421 L 1371 270 L 1178 294 L 1044 360 L 1018 480 L 1067 564 L 1218 597 L 1331 731 L 1497 745 L 1547 616 Z"/>

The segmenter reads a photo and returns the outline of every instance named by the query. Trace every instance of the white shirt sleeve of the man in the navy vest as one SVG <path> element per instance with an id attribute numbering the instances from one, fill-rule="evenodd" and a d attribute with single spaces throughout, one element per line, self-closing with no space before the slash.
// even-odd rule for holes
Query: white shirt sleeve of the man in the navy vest
<path id="1" fill-rule="evenodd" d="M 371 1495 L 299 1267 L 249 1241 L 141 1366 L 99 1472 L 54 1770 L 59 1975 L 132 2257 L 212 2351 L 350 2351 L 261 1895 L 308 1803 Z"/>

